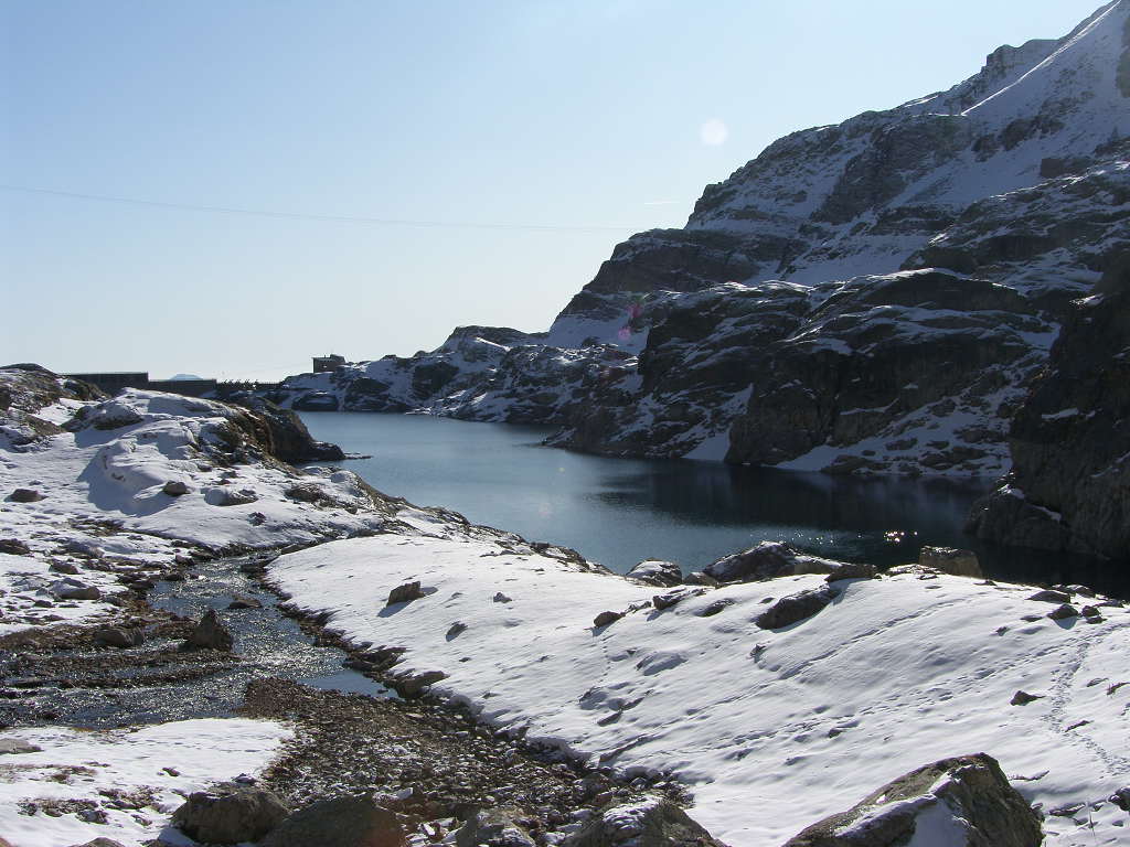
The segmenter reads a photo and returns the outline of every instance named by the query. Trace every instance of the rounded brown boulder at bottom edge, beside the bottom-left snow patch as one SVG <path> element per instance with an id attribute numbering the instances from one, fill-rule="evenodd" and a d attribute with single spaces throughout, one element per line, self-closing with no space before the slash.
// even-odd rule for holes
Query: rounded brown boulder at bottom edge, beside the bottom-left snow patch
<path id="1" fill-rule="evenodd" d="M 205 844 L 258 841 L 287 817 L 271 792 L 245 785 L 225 785 L 194 792 L 175 812 L 173 826 Z"/>

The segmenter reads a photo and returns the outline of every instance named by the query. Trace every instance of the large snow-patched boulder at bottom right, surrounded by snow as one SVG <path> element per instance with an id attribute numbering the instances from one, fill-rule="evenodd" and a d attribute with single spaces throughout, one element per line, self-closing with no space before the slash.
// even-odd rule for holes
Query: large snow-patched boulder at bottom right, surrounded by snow
<path id="1" fill-rule="evenodd" d="M 1040 815 L 997 760 L 975 753 L 912 770 L 784 847 L 1037 847 L 1043 838 Z"/>

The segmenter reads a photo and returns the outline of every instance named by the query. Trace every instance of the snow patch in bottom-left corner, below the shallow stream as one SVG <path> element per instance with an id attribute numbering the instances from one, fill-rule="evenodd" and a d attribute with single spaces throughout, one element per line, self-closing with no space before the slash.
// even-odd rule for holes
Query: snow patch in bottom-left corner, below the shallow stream
<path id="1" fill-rule="evenodd" d="M 245 718 L 105 732 L 58 726 L 7 731 L 5 739 L 42 752 L 0 756 L 0 832 L 12 847 L 61 847 L 97 837 L 140 845 L 162 833 L 190 793 L 253 776 L 292 736 L 282 724 Z M 114 798 L 122 794 L 144 796 L 141 807 L 115 809 Z M 68 801 L 86 801 L 84 807 L 101 811 L 106 822 L 85 821 L 80 810 L 59 817 L 42 807 L 27 813 L 32 803 Z"/>

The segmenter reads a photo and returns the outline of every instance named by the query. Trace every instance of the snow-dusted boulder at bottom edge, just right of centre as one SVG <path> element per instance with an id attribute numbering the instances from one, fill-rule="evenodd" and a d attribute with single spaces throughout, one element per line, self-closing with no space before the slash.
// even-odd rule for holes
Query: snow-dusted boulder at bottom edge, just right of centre
<path id="1" fill-rule="evenodd" d="M 609 806 L 570 836 L 563 847 L 723 847 L 669 800 Z"/>

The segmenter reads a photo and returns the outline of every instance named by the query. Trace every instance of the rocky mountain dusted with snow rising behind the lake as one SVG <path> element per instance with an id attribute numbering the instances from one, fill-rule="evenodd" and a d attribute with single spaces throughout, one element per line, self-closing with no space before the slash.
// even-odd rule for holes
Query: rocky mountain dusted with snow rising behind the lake
<path id="1" fill-rule="evenodd" d="M 1130 248 L 1130 0 L 951 89 L 788 136 L 618 245 L 545 333 L 292 377 L 294 409 L 551 422 L 551 443 L 998 474 L 1071 303 Z"/>

